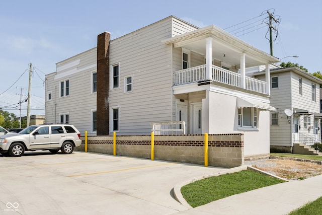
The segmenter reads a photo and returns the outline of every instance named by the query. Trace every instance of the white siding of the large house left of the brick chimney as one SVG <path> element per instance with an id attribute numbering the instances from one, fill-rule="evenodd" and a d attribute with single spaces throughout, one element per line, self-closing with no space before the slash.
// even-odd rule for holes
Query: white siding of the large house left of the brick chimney
<path id="1" fill-rule="evenodd" d="M 84 135 L 91 133 L 91 109 L 96 109 L 96 93 L 92 93 L 92 74 L 96 71 L 97 49 L 93 48 L 56 64 L 57 71 L 46 76 L 46 123 L 59 123 L 59 114 L 68 113 L 69 123 Z M 69 80 L 69 96 L 59 97 L 59 83 Z"/>

